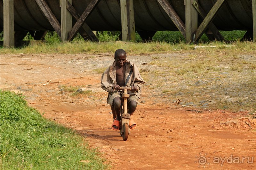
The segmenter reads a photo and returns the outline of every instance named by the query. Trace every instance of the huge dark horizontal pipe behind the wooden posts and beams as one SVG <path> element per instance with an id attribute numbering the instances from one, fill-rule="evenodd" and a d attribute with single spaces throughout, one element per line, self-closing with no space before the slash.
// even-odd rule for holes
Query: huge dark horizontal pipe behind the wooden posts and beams
<path id="1" fill-rule="evenodd" d="M 60 1 L 46 2 L 60 22 Z M 209 12 L 215 2 L 214 0 L 198 1 L 205 12 Z M 72 5 L 80 14 L 89 3 L 90 1 L 72 1 Z M 175 0 L 169 3 L 185 23 L 184 1 Z M 3 0 L 0 1 L 0 8 L 1 30 L 3 30 Z M 134 1 L 134 17 L 136 31 L 178 31 L 157 1 Z M 121 31 L 120 1 L 101 0 L 85 22 L 92 30 Z M 219 30 L 252 30 L 252 0 L 226 1 L 213 19 L 213 23 Z M 54 30 L 34 0 L 14 1 L 14 29 L 15 31 Z"/>

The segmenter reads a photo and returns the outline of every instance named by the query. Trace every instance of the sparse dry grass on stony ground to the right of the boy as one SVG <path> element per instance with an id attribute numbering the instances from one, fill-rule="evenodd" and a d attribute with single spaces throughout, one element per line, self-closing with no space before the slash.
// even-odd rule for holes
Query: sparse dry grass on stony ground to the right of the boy
<path id="1" fill-rule="evenodd" d="M 244 42 L 240 46 L 251 50 Z M 255 44 L 249 46 L 255 48 Z M 255 110 L 256 53 L 236 50 L 235 47 L 204 48 L 183 51 L 177 56 L 152 57 L 148 65 L 151 75 L 148 89 L 159 89 L 166 96 L 164 101 L 179 98 L 183 100 L 182 105 L 193 102 L 199 109 L 204 108 L 200 101 L 205 101 L 208 109 Z M 151 82 L 154 78 L 158 78 L 157 84 Z M 223 103 L 225 96 L 239 100 Z"/>

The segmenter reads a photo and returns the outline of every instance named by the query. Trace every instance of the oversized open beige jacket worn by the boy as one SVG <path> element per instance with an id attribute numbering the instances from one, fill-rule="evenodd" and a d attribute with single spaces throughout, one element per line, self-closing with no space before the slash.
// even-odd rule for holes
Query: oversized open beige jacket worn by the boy
<path id="1" fill-rule="evenodd" d="M 141 87 L 145 82 L 143 78 L 140 76 L 139 69 L 135 66 L 134 63 L 129 62 L 128 60 L 126 60 L 125 66 L 126 66 L 125 77 L 124 77 L 125 81 L 131 71 L 131 68 L 133 69 L 132 75 L 129 81 L 127 82 L 126 86 L 131 87 L 133 85 L 137 85 L 139 87 L 138 92 L 128 91 L 127 93 L 135 94 L 140 98 Z M 111 93 L 113 92 L 112 91 L 113 85 L 116 85 L 116 61 L 114 61 L 114 63 L 110 65 L 109 68 L 105 70 L 101 76 L 101 88 L 108 92 L 108 99 L 110 98 Z M 108 99 L 107 99 L 107 102 L 108 102 Z"/>

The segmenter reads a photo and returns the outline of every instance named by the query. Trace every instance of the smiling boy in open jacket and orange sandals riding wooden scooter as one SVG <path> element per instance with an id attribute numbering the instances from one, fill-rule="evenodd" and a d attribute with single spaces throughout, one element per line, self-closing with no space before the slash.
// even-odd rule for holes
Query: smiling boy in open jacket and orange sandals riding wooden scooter
<path id="1" fill-rule="evenodd" d="M 108 92 L 107 102 L 110 104 L 114 119 L 112 129 L 119 130 L 123 94 L 122 91 L 119 91 L 120 87 L 132 88 L 131 91 L 127 91 L 130 94 L 127 100 L 127 113 L 132 115 L 140 99 L 140 89 L 145 82 L 134 63 L 126 60 L 126 53 L 123 49 L 116 50 L 114 59 L 114 63 L 101 76 L 101 88 Z M 135 129 L 136 123 L 130 119 L 129 126 L 130 129 Z"/>

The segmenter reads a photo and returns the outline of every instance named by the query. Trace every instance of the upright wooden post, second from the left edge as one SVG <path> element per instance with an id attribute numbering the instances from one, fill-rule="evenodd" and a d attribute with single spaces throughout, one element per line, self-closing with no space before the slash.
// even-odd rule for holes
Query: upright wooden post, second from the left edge
<path id="1" fill-rule="evenodd" d="M 72 4 L 72 0 L 61 0 L 61 22 L 60 22 L 60 33 L 61 41 L 65 42 L 68 40 L 68 33 L 72 29 L 72 15 L 66 8 L 66 1 Z"/>

